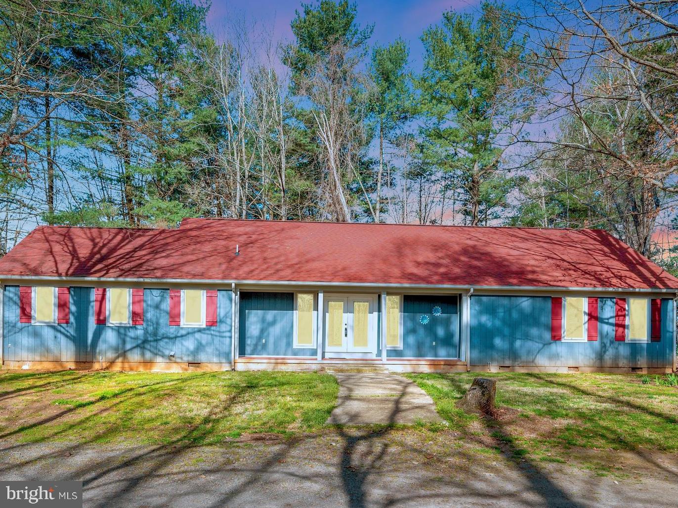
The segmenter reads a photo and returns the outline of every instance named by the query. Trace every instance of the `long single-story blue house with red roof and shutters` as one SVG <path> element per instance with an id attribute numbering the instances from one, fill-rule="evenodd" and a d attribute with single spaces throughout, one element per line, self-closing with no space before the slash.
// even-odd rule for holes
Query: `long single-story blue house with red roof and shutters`
<path id="1" fill-rule="evenodd" d="M 185 219 L 0 259 L 5 368 L 669 372 L 678 279 L 601 230 Z"/>

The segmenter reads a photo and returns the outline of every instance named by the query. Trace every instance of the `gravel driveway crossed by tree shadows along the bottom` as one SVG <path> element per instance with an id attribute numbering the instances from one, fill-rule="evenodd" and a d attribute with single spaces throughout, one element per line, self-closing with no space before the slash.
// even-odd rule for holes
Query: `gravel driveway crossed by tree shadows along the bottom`
<path id="1" fill-rule="evenodd" d="M 678 458 L 621 475 L 465 450 L 439 433 L 334 429 L 220 446 L 0 442 L 3 480 L 83 480 L 85 507 L 675 506 Z M 591 457 L 589 457 L 591 459 Z M 628 473 L 626 473 L 628 471 Z"/>

